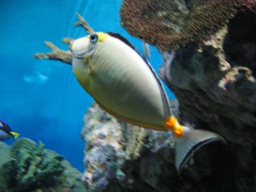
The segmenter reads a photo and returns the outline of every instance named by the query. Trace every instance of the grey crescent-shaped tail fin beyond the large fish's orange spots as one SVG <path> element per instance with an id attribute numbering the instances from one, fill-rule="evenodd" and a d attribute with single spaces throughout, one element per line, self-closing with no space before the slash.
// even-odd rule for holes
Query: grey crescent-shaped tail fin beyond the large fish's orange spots
<path id="1" fill-rule="evenodd" d="M 206 145 L 207 143 L 218 140 L 225 142 L 224 138 L 219 134 L 200 129 L 189 130 L 182 137 L 177 138 L 175 150 L 175 166 L 178 173 L 180 173 L 184 164 L 188 162 L 196 150 Z"/>

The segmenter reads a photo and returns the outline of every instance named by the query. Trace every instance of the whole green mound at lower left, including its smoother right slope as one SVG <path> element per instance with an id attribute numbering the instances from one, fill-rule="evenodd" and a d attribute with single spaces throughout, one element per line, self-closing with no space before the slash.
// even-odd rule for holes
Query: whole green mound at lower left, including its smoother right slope
<path id="1" fill-rule="evenodd" d="M 81 173 L 42 143 L 22 138 L 0 148 L 0 191 L 86 191 Z"/>

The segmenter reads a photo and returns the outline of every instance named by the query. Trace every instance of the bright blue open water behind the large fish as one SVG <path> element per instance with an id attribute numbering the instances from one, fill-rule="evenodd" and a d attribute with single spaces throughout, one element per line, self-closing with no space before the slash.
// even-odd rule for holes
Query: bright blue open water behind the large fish
<path id="1" fill-rule="evenodd" d="M 79 86 L 70 66 L 35 60 L 33 54 L 49 51 L 44 40 L 67 49 L 63 37 L 84 36 L 82 28 L 74 27 L 76 12 L 96 31 L 120 33 L 141 51 L 141 41 L 120 26 L 121 4 L 120 0 L 0 0 L 0 118 L 21 137 L 41 140 L 81 171 L 81 127 L 93 99 Z M 163 60 L 156 48 L 150 51 L 150 63 L 157 71 Z"/>

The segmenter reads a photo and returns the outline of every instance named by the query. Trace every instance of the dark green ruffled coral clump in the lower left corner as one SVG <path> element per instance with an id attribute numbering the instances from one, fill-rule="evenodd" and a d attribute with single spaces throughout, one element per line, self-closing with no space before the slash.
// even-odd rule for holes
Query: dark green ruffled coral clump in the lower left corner
<path id="1" fill-rule="evenodd" d="M 42 143 L 18 140 L 10 154 L 10 161 L 0 168 L 1 191 L 32 191 L 61 182 L 63 157 L 48 156 Z"/>

